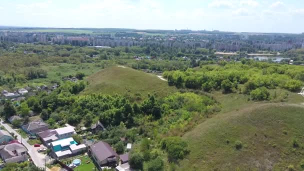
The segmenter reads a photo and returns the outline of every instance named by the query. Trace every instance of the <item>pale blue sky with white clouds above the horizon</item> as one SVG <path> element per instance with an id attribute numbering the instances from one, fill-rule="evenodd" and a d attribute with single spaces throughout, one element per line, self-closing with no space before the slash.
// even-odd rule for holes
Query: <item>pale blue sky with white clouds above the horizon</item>
<path id="1" fill-rule="evenodd" d="M 0 25 L 304 32 L 304 0 L 0 0 Z"/>

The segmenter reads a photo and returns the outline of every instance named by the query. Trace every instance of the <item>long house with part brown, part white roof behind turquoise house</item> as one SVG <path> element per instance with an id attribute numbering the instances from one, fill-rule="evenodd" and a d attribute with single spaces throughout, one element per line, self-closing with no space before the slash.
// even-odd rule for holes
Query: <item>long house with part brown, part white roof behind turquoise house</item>
<path id="1" fill-rule="evenodd" d="M 47 129 L 42 132 L 38 132 L 37 136 L 40 137 L 41 141 L 47 145 L 48 143 L 71 137 L 73 134 L 76 134 L 73 126 L 65 126 L 57 129 Z"/>

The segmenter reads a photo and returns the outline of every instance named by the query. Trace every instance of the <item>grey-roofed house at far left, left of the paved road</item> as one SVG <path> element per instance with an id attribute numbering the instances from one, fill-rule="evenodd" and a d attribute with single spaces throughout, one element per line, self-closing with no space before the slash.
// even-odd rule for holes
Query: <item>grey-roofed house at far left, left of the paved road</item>
<path id="1" fill-rule="evenodd" d="M 0 156 L 6 163 L 27 160 L 27 149 L 20 143 L 9 143 L 0 146 Z"/>

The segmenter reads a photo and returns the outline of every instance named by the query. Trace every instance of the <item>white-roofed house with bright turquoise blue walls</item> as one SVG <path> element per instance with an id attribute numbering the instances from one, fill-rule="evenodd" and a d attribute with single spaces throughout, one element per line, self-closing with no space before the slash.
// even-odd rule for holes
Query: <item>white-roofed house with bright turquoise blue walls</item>
<path id="1" fill-rule="evenodd" d="M 56 140 L 48 145 L 52 151 L 51 155 L 56 159 L 77 155 L 86 150 L 84 144 L 77 144 L 72 137 Z"/>

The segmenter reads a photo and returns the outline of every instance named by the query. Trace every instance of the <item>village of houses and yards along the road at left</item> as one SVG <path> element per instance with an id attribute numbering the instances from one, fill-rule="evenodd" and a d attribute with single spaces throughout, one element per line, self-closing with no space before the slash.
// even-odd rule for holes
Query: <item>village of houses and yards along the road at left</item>
<path id="1" fill-rule="evenodd" d="M 62 80 L 77 81 L 76 78 Z M 35 91 L 49 92 L 57 87 L 57 84 L 53 84 L 19 88 L 13 92 L 2 90 L 1 97 L 13 101 L 14 105 L 20 105 L 21 100 L 34 95 Z M 24 121 L 20 115 L 1 119 L 0 167 L 5 163 L 30 161 L 45 170 L 55 164 L 60 165 L 60 170 L 132 170 L 128 164 L 128 151 L 132 144 L 128 143 L 126 137 L 120 137 L 125 145 L 125 153 L 120 155 L 105 141 L 85 138 L 86 134 L 106 131 L 100 121 L 77 130 L 68 123 L 53 129 L 36 115 L 30 110 L 29 117 L 38 119 Z"/>

